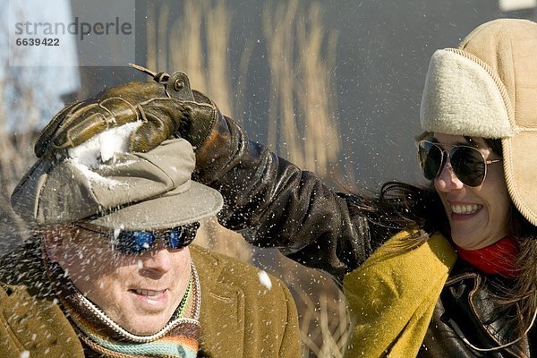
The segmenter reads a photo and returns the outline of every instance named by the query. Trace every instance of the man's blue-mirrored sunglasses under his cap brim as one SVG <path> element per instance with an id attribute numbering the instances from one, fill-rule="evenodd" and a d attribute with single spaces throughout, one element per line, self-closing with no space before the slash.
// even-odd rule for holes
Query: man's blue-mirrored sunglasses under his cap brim
<path id="1" fill-rule="evenodd" d="M 121 230 L 119 233 L 107 231 L 100 226 L 78 222 L 74 224 L 84 230 L 91 231 L 110 238 L 115 251 L 126 254 L 137 254 L 151 250 L 157 239 L 165 239 L 170 249 L 181 249 L 194 241 L 200 223 L 191 223 L 175 226 L 172 229 L 158 231 L 158 233 L 144 230 Z"/>

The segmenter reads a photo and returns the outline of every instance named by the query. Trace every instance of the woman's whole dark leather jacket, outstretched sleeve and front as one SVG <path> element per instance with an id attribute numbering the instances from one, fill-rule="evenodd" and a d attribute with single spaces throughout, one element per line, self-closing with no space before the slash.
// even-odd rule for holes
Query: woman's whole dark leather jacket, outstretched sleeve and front
<path id="1" fill-rule="evenodd" d="M 196 150 L 195 179 L 220 191 L 220 222 L 250 243 L 277 247 L 287 257 L 320 268 L 341 282 L 391 234 L 372 227 L 360 198 L 337 193 L 311 172 L 248 141 L 233 120 L 222 117 Z M 420 357 L 537 357 L 537 329 L 515 345 L 492 352 L 470 348 L 505 345 L 511 332 L 503 317 L 490 321 L 490 282 L 457 261 L 439 297 Z M 516 312 L 515 312 L 516 314 Z"/>

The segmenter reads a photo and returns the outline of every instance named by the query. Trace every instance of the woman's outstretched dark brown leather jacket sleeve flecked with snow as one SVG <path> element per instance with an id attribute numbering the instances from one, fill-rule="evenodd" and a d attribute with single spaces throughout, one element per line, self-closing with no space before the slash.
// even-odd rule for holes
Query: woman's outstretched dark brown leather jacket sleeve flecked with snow
<path id="1" fill-rule="evenodd" d="M 194 179 L 225 198 L 220 223 L 249 243 L 277 247 L 339 281 L 378 246 L 367 220 L 344 194 L 249 141 L 230 118 L 220 118 L 196 158 Z"/>

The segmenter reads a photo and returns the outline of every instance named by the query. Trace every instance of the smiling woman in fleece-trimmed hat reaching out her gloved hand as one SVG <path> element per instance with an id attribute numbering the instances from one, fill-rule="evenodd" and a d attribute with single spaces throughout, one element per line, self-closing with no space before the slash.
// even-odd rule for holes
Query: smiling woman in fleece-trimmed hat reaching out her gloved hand
<path id="1" fill-rule="evenodd" d="M 154 77 L 170 93 L 177 83 L 176 73 Z M 537 356 L 536 23 L 490 21 L 432 56 L 418 141 L 426 188 L 333 192 L 248 141 L 199 92 L 168 96 L 141 104 L 149 120 L 132 148 L 179 132 L 197 147 L 196 179 L 226 199 L 225 226 L 344 282 L 350 356 Z M 84 141 L 92 122 L 61 113 L 53 124 L 38 152 Z"/>

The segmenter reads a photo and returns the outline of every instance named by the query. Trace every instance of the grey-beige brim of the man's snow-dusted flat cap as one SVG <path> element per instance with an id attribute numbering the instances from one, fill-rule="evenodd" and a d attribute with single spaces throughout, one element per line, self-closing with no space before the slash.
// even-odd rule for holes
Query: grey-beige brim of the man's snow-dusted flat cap
<path id="1" fill-rule="evenodd" d="M 191 182 L 186 192 L 167 192 L 90 220 L 91 224 L 111 229 L 158 230 L 199 221 L 222 209 L 222 195 L 209 186 Z"/>

